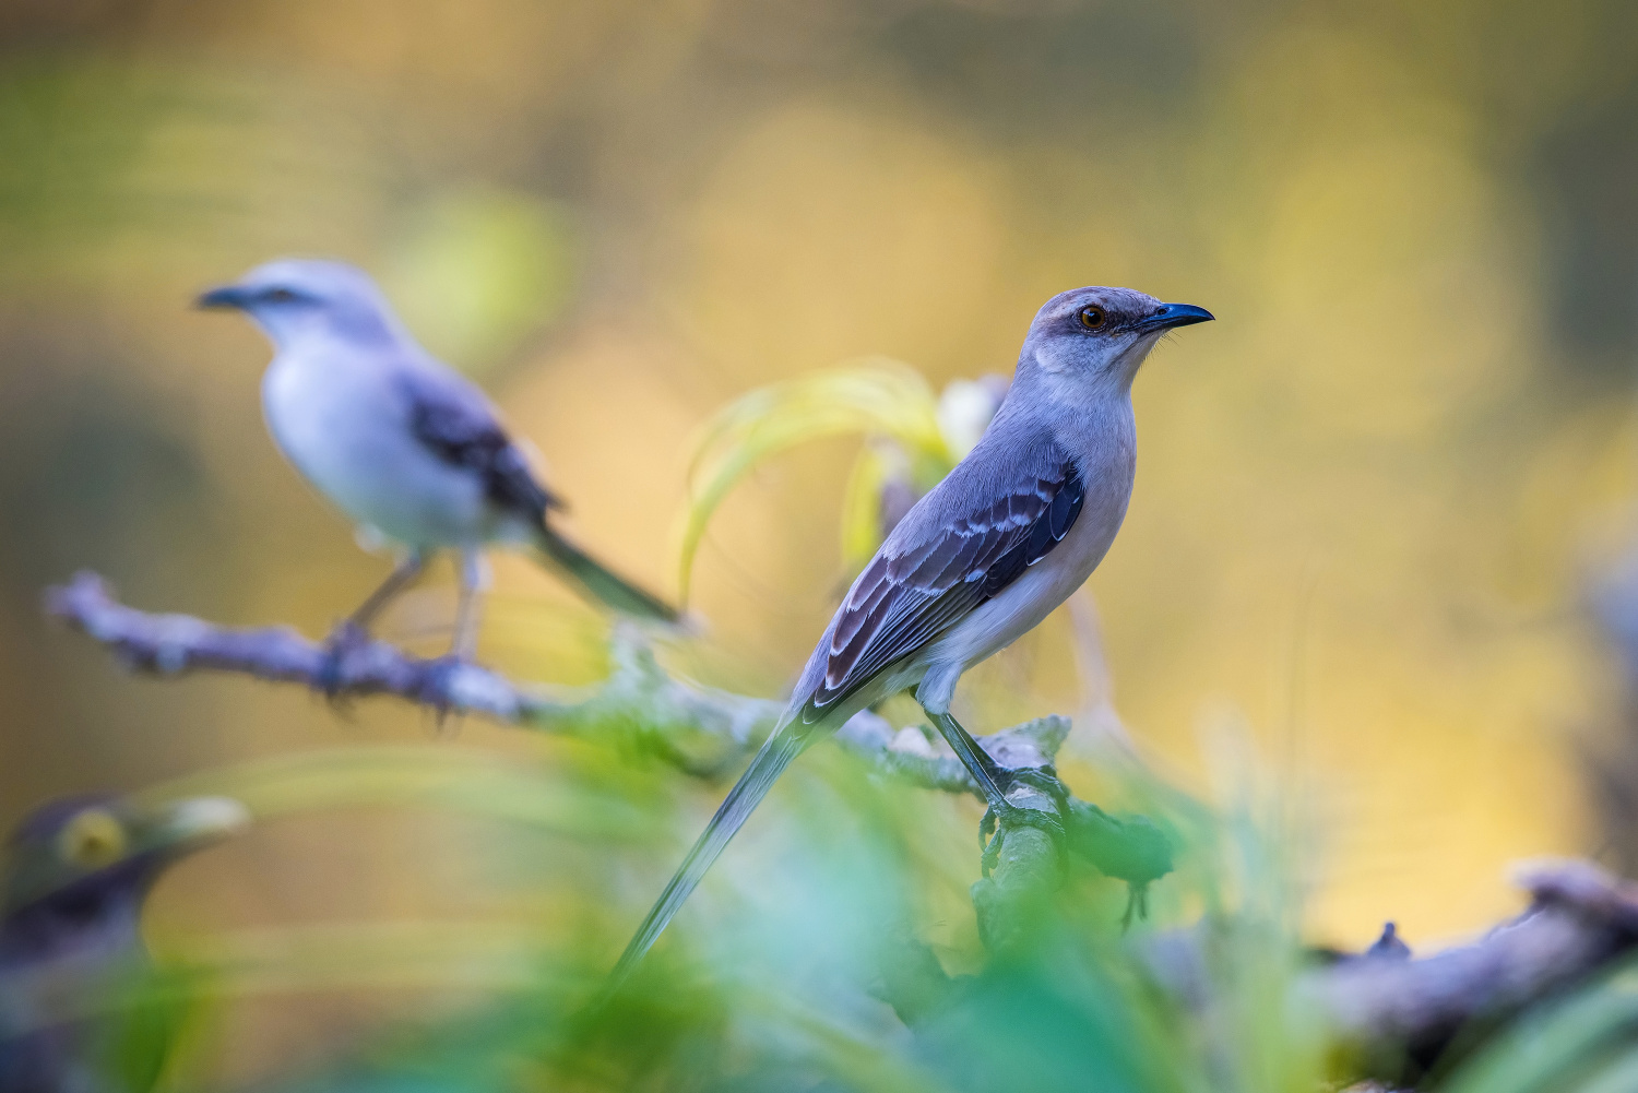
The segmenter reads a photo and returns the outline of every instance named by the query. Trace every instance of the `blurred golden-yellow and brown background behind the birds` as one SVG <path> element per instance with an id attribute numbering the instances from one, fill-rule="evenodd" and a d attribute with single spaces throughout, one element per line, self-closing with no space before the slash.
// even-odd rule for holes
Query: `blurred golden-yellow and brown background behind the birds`
<path id="1" fill-rule="evenodd" d="M 1315 941 L 1479 929 L 1517 906 L 1509 862 L 1607 841 L 1584 755 L 1618 680 L 1582 601 L 1635 487 L 1628 8 L 13 5 L 0 819 L 429 736 L 388 703 L 129 680 L 39 618 L 95 567 L 141 606 L 321 633 L 383 572 L 270 447 L 260 338 L 187 308 L 213 282 L 288 252 L 377 274 L 575 533 L 665 590 L 724 401 L 863 354 L 935 387 L 1007 372 L 1042 300 L 1119 283 L 1219 315 L 1135 387 L 1137 493 L 1091 582 L 1125 723 L 1202 793 L 1214 739 L 1258 755 L 1312 846 Z M 776 693 L 822 629 L 853 451 L 781 459 L 719 513 L 693 595 L 714 682 Z M 447 585 L 391 633 L 436 649 Z M 598 626 L 506 559 L 483 655 L 580 680 L 552 651 Z M 1076 710 L 1061 613 L 970 692 L 981 729 Z M 447 906 L 388 828 L 337 849 L 292 821 L 162 903 Z"/>

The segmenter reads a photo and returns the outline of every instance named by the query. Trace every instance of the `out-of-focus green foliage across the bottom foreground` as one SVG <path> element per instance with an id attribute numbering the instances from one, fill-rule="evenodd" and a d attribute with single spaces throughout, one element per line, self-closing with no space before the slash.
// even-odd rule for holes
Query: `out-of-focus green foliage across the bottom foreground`
<path id="1" fill-rule="evenodd" d="M 272 826 L 365 803 L 467 813 L 485 818 L 486 855 L 519 862 L 532 846 L 527 855 L 562 862 L 567 883 L 542 890 L 550 913 L 537 905 L 527 926 L 375 921 L 161 942 L 151 983 L 102 1006 L 124 1014 L 113 1027 L 126 1055 L 151 1060 L 169 1044 L 157 1088 L 177 1093 L 218 1088 L 208 1075 L 229 1027 L 224 1006 L 337 991 L 411 993 L 428 1008 L 257 1088 L 1317 1088 L 1324 1029 L 1283 1001 L 1302 960 L 1292 908 L 1273 895 L 1287 890 L 1283 855 L 1263 846 L 1251 814 L 1214 816 L 1133 777 L 1133 795 L 1165 808 L 1156 819 L 1189 841 L 1165 882 L 1166 909 L 1125 932 L 1119 885 L 1081 867 L 1035 908 L 1020 944 L 986 959 L 970 929 L 932 949 L 917 939 L 932 908 L 965 901 L 963 854 L 937 823 L 955 818 L 953 801 L 865 778 L 821 749 L 781 787 L 785 814 L 753 839 L 753 860 L 708 882 L 704 908 L 680 918 L 609 998 L 608 959 L 645 895 L 609 849 L 644 832 L 668 855 L 683 832 L 649 780 L 604 749 L 577 749 L 552 772 L 432 747 L 203 772 L 149 796 L 233 791 Z M 953 811 L 970 857 L 971 810 Z M 645 819 L 634 828 L 634 818 Z M 500 888 L 516 880 L 506 865 L 488 877 Z M 1206 1009 L 1191 1009 L 1155 978 L 1145 939 L 1192 924 L 1201 908 Z M 180 1036 L 156 1019 L 183 1009 Z"/>

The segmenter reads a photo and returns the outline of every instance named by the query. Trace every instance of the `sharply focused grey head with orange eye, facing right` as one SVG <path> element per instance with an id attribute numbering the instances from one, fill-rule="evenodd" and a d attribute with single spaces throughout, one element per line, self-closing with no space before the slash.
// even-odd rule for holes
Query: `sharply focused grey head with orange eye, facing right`
<path id="1" fill-rule="evenodd" d="M 1161 303 L 1132 288 L 1071 288 L 1035 313 L 1019 370 L 1038 365 L 1053 388 L 1127 390 L 1161 334 L 1212 318 L 1192 303 Z"/>

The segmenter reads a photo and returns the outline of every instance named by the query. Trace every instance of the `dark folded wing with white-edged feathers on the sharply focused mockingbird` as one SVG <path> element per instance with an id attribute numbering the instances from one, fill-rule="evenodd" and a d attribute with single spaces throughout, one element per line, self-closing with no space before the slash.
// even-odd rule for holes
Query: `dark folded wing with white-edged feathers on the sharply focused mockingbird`
<path id="1" fill-rule="evenodd" d="M 958 467 L 953 474 L 962 474 Z M 948 483 L 947 485 L 953 485 Z M 984 497 L 994 497 L 984 492 Z M 847 593 L 830 628 L 824 670 L 803 721 L 847 698 L 883 669 L 916 652 L 996 596 L 1075 526 L 1086 490 L 1066 454 L 1055 452 L 978 511 L 907 516 Z M 924 503 L 935 498 L 929 495 Z M 919 506 L 921 508 L 921 506 Z"/>

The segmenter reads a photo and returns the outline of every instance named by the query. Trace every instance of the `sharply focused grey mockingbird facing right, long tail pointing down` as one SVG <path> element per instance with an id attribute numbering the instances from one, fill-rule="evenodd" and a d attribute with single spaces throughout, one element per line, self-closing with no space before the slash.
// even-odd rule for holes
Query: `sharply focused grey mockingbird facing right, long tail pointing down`
<path id="1" fill-rule="evenodd" d="M 790 705 L 631 939 L 642 959 L 775 778 L 857 711 L 916 688 L 996 821 L 1040 824 L 1007 801 L 1002 770 L 950 716 L 962 673 L 1006 649 L 1081 587 L 1132 497 L 1132 379 L 1170 329 L 1210 311 L 1130 288 L 1076 288 L 1035 315 L 994 421 L 906 513 L 848 590 Z"/>

